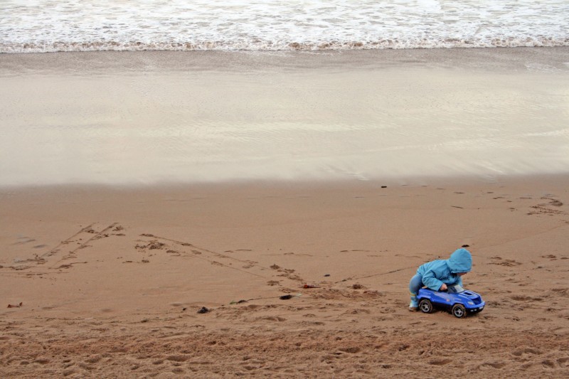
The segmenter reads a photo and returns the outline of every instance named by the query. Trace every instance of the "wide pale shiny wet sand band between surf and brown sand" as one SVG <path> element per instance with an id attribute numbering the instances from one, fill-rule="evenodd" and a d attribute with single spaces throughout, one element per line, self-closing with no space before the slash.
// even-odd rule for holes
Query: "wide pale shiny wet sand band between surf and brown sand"
<path id="1" fill-rule="evenodd" d="M 0 55 L 0 184 L 569 171 L 569 49 Z"/>

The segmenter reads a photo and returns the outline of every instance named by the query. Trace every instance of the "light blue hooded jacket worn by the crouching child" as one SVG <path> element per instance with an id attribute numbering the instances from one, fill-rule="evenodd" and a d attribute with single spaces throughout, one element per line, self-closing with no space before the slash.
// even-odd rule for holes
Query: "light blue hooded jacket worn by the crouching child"
<path id="1" fill-rule="evenodd" d="M 472 255 L 466 249 L 454 251 L 447 260 L 433 260 L 421 265 L 417 273 L 422 277 L 422 284 L 437 291 L 443 283 L 462 286 L 459 272 L 469 272 L 472 269 Z"/>

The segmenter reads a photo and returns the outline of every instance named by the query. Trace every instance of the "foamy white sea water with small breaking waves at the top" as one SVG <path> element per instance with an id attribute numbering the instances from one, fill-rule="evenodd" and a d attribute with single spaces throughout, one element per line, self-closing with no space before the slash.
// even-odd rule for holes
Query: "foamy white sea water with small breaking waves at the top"
<path id="1" fill-rule="evenodd" d="M 569 46 L 567 0 L 0 0 L 0 53 Z"/>

